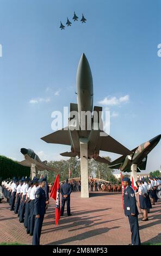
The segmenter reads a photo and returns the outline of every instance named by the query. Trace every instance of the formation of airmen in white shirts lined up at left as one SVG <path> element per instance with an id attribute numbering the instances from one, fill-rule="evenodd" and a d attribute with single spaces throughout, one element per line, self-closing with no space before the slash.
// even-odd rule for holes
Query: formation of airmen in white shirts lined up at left
<path id="1" fill-rule="evenodd" d="M 40 244 L 42 222 L 48 204 L 48 191 L 44 190 L 46 179 L 16 178 L 2 181 L 2 192 L 10 205 L 10 211 L 18 215 L 27 234 L 33 236 L 32 244 Z"/>

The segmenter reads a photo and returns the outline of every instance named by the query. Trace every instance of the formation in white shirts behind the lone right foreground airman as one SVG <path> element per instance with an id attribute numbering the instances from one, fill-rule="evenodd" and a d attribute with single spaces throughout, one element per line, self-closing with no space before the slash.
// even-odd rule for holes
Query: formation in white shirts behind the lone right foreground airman
<path id="1" fill-rule="evenodd" d="M 144 215 L 142 221 L 148 221 L 148 213 L 150 213 L 152 205 L 154 205 L 158 200 L 157 190 L 158 187 L 161 185 L 161 179 L 149 178 L 146 182 L 145 179 L 143 178 L 141 180 L 138 180 L 137 184 L 139 193 L 139 204 L 140 208 L 143 209 Z"/>

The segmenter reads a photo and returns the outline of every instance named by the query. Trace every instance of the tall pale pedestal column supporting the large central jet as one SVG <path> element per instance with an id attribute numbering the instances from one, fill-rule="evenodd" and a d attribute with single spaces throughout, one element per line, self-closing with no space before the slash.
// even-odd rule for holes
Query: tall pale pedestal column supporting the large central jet
<path id="1" fill-rule="evenodd" d="M 79 139 L 80 142 L 80 174 L 81 174 L 81 197 L 89 197 L 88 186 L 88 142 L 86 139 Z"/>

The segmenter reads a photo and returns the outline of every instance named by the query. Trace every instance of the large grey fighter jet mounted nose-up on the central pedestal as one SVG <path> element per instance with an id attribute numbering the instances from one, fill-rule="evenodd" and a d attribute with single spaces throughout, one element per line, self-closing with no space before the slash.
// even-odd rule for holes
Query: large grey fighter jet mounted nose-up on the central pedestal
<path id="1" fill-rule="evenodd" d="M 106 132 L 102 131 L 102 128 L 100 130 L 102 124 L 102 107 L 95 106 L 93 109 L 94 92 L 92 74 L 84 53 L 79 61 L 76 83 L 77 104 L 70 103 L 68 126 L 41 139 L 47 143 L 70 145 L 71 152 L 61 153 L 61 156 L 80 157 L 79 139 L 83 138 L 86 140 L 86 143 L 88 143 L 88 159 L 92 159 L 93 157 L 96 161 L 103 163 L 110 162 L 99 156 L 100 150 L 121 155 L 132 154 L 132 151 L 128 150 Z M 88 122 L 83 119 L 84 112 L 89 113 L 90 127 L 88 126 Z"/>

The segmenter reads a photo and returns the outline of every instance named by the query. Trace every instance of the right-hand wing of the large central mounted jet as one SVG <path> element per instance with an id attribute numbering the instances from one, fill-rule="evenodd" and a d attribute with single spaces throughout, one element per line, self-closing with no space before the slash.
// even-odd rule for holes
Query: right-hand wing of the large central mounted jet
<path id="1" fill-rule="evenodd" d="M 98 143 L 100 144 L 100 150 L 108 151 L 120 155 L 131 155 L 132 151 L 124 147 L 120 142 L 117 142 L 114 138 L 109 136 L 106 132 L 100 131 L 104 133 L 105 136 L 100 136 L 98 138 Z"/>

